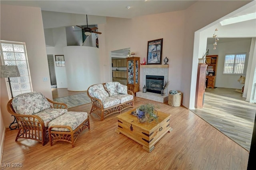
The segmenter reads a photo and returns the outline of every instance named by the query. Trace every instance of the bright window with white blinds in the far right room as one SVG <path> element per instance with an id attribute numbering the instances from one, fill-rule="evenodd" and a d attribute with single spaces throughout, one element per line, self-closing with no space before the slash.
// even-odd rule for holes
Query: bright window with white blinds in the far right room
<path id="1" fill-rule="evenodd" d="M 223 74 L 244 74 L 246 53 L 226 54 Z"/>

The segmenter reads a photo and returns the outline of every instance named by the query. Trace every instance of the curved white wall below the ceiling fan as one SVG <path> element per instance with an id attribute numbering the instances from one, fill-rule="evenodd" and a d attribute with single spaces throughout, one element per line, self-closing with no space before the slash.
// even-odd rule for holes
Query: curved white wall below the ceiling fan
<path id="1" fill-rule="evenodd" d="M 92 84 L 100 83 L 100 52 L 96 47 L 66 46 L 66 72 L 68 90 L 86 91 Z"/>

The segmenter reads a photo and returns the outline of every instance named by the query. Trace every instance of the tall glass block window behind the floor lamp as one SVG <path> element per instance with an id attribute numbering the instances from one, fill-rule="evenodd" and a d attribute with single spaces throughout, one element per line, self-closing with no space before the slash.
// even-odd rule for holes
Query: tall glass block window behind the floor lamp
<path id="1" fill-rule="evenodd" d="M 16 65 L 18 66 L 20 72 L 20 77 L 10 77 L 13 96 L 15 97 L 18 94 L 32 92 L 28 58 L 26 54 L 26 44 L 23 42 L 1 40 L 0 46 L 2 60 L 1 65 Z M 8 82 L 6 83 L 7 86 L 9 86 Z"/>

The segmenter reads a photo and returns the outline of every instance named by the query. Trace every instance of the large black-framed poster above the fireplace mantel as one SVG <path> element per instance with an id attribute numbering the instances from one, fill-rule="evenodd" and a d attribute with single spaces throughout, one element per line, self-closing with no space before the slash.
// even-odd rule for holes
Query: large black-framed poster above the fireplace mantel
<path id="1" fill-rule="evenodd" d="M 163 38 L 148 41 L 147 64 L 161 64 Z"/>

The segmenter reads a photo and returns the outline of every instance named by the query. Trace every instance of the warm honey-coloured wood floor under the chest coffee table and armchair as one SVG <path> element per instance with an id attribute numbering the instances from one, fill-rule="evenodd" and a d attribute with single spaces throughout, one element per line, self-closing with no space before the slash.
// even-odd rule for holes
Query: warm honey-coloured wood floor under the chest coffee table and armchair
<path id="1" fill-rule="evenodd" d="M 134 100 L 135 107 L 150 102 L 172 115 L 173 130 L 150 153 L 130 138 L 114 132 L 118 114 L 102 122 L 90 114 L 90 130 L 80 134 L 74 148 L 68 142 L 53 146 L 49 143 L 42 146 L 28 139 L 15 142 L 17 130 L 7 130 L 1 163 L 22 163 L 20 170 L 246 170 L 248 152 L 190 110 L 138 97 Z M 69 111 L 90 112 L 90 109 L 91 104 L 84 104 Z"/>

